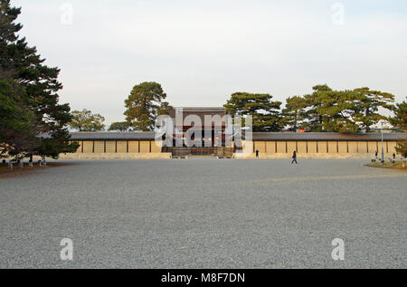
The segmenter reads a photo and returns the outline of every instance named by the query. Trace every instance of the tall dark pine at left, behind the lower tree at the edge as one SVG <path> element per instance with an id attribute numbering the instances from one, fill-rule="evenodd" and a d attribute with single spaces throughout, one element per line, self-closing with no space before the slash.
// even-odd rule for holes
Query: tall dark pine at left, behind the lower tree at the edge
<path id="1" fill-rule="evenodd" d="M 17 33 L 22 29 L 15 20 L 20 8 L 10 6 L 9 0 L 0 1 L 0 52 L 1 71 L 18 85 L 18 106 L 33 113 L 37 129 L 32 132 L 29 142 L 33 146 L 24 151 L 57 158 L 60 153 L 73 152 L 78 144 L 70 143 L 66 125 L 71 121 L 68 104 L 59 104 L 58 81 L 60 70 L 43 64 L 44 60 L 35 47 L 30 47 L 25 38 Z M 20 119 L 24 121 L 24 119 Z M 21 154 L 24 156 L 23 154 Z"/>

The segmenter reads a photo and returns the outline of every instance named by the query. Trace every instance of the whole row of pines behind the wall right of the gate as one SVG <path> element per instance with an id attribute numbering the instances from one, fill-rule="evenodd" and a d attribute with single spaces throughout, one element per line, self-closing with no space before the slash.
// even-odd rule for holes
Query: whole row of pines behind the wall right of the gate
<path id="1" fill-rule="evenodd" d="M 254 131 L 304 130 L 309 132 L 370 132 L 381 120 L 390 119 L 384 110 L 394 110 L 394 96 L 369 88 L 335 91 L 324 85 L 312 93 L 282 102 L 270 94 L 233 93 L 224 105 L 237 115 L 251 115 Z"/>

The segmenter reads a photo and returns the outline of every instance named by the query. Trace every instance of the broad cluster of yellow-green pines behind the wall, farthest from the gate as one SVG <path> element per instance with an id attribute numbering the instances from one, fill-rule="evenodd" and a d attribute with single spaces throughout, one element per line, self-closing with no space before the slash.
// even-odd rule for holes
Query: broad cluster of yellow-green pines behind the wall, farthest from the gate
<path id="1" fill-rule="evenodd" d="M 334 91 L 326 84 L 317 85 L 311 94 L 287 100 L 283 122 L 290 130 L 369 132 L 387 119 L 380 109 L 391 110 L 393 101 L 392 94 L 369 88 Z"/>

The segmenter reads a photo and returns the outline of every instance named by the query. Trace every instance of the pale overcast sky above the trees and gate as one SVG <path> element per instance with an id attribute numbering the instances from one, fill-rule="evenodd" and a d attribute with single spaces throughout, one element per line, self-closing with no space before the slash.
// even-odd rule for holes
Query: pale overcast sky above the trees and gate
<path id="1" fill-rule="evenodd" d="M 284 101 L 319 83 L 407 96 L 405 0 L 11 2 L 21 34 L 62 69 L 61 101 L 108 123 L 142 81 L 177 107 L 222 106 L 235 91 Z"/>

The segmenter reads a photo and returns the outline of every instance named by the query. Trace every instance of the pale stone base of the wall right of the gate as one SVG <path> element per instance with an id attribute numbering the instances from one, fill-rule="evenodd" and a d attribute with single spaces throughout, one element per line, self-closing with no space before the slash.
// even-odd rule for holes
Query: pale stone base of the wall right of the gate
<path id="1" fill-rule="evenodd" d="M 321 158 L 321 159 L 345 159 L 345 158 L 355 158 L 355 159 L 373 159 L 374 154 L 327 154 L 327 153 L 317 153 L 317 154 L 298 154 L 298 159 L 301 158 Z M 256 158 L 256 154 L 233 154 L 233 158 L 238 158 L 238 159 L 251 159 L 251 158 Z M 278 158 L 292 158 L 291 154 L 272 154 L 272 155 L 265 155 L 265 154 L 260 154 L 260 159 L 278 159 Z M 379 159 L 381 158 L 381 155 L 379 155 Z M 384 154 L 384 160 L 388 160 L 389 158 L 393 158 L 393 154 Z M 400 158 L 398 156 L 397 158 Z"/>

